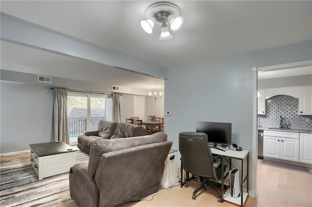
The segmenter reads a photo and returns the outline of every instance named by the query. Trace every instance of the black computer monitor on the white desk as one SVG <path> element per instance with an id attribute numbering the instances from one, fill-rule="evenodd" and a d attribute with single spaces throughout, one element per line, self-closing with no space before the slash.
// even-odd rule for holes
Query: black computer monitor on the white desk
<path id="1" fill-rule="evenodd" d="M 196 132 L 208 135 L 208 142 L 216 144 L 232 144 L 232 123 L 196 121 Z"/>

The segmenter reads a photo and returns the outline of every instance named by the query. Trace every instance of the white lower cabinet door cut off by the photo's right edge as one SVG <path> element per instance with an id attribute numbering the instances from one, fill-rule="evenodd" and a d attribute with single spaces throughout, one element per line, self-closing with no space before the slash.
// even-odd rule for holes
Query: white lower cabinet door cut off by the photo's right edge
<path id="1" fill-rule="evenodd" d="M 299 162 L 312 164 L 312 134 L 300 133 Z"/>

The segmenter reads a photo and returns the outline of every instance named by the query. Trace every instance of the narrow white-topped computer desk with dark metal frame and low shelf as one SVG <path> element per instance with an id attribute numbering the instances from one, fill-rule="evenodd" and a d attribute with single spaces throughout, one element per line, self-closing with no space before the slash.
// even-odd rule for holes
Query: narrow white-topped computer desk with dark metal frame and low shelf
<path id="1" fill-rule="evenodd" d="M 225 158 L 230 158 L 230 159 L 238 159 L 241 161 L 241 173 L 240 173 L 240 197 L 238 198 L 233 198 L 231 197 L 231 192 L 230 192 L 230 188 L 226 191 L 226 193 L 224 194 L 224 178 L 222 176 L 222 184 L 221 184 L 221 202 L 223 202 L 223 200 L 232 202 L 234 204 L 240 205 L 241 207 L 244 206 L 245 201 L 247 199 L 248 196 L 248 159 L 249 159 L 249 151 L 248 150 L 243 150 L 243 151 L 234 151 L 234 150 L 227 150 L 227 151 L 221 151 L 221 150 L 217 150 L 214 148 L 210 148 L 211 152 L 213 153 L 213 155 L 216 156 L 220 156 L 222 157 L 222 175 L 224 175 L 224 159 Z M 244 159 L 247 158 L 247 173 L 245 176 L 244 175 Z M 231 169 L 231 164 L 230 164 L 230 169 Z M 247 181 L 247 190 L 246 192 L 244 192 L 244 183 Z"/>

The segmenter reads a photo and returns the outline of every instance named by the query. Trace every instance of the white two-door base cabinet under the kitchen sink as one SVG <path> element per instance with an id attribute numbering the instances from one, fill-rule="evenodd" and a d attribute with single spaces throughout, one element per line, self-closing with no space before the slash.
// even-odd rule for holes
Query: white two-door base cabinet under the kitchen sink
<path id="1" fill-rule="evenodd" d="M 263 131 L 263 156 L 299 162 L 299 133 Z"/>

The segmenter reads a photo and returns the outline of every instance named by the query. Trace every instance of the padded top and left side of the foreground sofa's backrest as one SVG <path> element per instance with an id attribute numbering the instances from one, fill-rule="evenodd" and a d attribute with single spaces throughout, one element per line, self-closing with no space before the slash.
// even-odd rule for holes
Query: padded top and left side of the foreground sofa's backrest
<path id="1" fill-rule="evenodd" d="M 148 136 L 93 141 L 90 146 L 89 176 L 94 177 L 103 153 L 164 141 L 167 141 L 167 134 L 164 132 L 157 132 Z"/>

